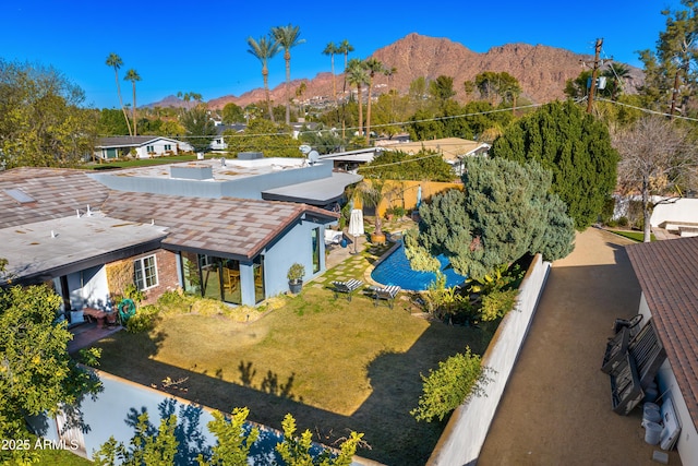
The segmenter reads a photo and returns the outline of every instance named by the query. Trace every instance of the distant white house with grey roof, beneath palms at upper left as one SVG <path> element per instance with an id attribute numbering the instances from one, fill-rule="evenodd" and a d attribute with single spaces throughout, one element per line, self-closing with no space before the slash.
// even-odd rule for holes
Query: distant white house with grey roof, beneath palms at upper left
<path id="1" fill-rule="evenodd" d="M 190 152 L 192 147 L 182 141 L 153 135 L 100 138 L 95 146 L 95 157 L 110 160 L 127 157 L 132 151 L 137 158 L 152 158 Z"/>

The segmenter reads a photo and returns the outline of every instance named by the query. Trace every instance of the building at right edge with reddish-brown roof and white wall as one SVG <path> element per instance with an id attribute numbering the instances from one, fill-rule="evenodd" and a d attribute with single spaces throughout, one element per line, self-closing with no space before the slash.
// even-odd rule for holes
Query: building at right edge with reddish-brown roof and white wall
<path id="1" fill-rule="evenodd" d="M 682 463 L 698 464 L 698 238 L 626 247 L 641 287 L 639 313 L 652 319 L 666 350 L 658 380 L 681 421 Z"/>

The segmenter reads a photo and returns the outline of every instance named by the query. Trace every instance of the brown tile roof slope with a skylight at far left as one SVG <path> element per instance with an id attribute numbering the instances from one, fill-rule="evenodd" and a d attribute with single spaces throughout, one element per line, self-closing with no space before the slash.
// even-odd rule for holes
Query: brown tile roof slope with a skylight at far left
<path id="1" fill-rule="evenodd" d="M 34 202 L 20 203 L 7 190 L 21 190 Z M 0 171 L 0 228 L 44 222 L 96 208 L 109 193 L 82 170 L 15 168 Z"/>

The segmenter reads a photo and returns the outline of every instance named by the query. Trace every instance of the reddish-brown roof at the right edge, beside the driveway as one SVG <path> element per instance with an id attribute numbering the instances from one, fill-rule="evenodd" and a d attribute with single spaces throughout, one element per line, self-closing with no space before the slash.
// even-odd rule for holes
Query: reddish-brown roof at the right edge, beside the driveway
<path id="1" fill-rule="evenodd" d="M 626 247 L 698 428 L 698 237 Z"/>

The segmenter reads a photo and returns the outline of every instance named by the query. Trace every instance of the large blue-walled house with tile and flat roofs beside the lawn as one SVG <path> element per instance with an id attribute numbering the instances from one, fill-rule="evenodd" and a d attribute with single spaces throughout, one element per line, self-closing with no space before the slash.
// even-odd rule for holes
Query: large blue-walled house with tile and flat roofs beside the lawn
<path id="1" fill-rule="evenodd" d="M 81 322 L 85 307 L 111 309 L 110 270 L 124 262 L 133 264 L 134 282 L 146 291 L 148 302 L 181 287 L 232 304 L 254 306 L 288 289 L 286 273 L 291 264 L 303 264 L 305 278 L 325 270 L 324 229 L 337 222 L 338 214 L 262 200 L 265 177 L 260 167 L 256 176 L 232 177 L 243 184 L 240 193 L 248 191 L 246 199 L 220 191 L 234 188 L 230 176 L 171 178 L 167 168 L 146 168 L 140 176 L 134 175 L 136 169 L 120 170 L 113 178 L 64 169 L 0 172 L 0 242 L 7 247 L 0 256 L 9 261 L 12 283 L 49 284 L 63 297 L 65 315 Z M 176 168 L 201 175 L 202 167 Z M 333 175 L 317 166 L 301 166 L 294 175 L 292 169 L 267 168 L 267 184 L 275 187 L 308 177 L 305 183 L 312 184 L 312 177 Z M 274 177 L 279 171 L 287 177 Z M 130 181 L 133 189 L 104 182 L 115 179 Z M 172 192 L 151 192 L 158 189 Z M 326 190 L 316 194 L 318 203 L 333 195 Z M 9 283 L 0 280 L 0 286 Z"/>

